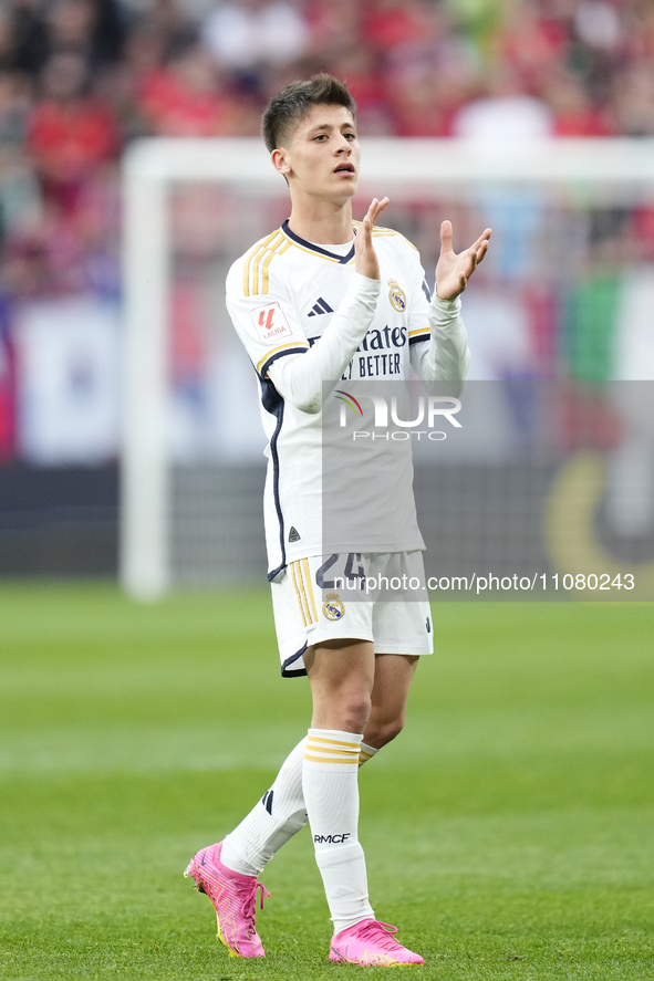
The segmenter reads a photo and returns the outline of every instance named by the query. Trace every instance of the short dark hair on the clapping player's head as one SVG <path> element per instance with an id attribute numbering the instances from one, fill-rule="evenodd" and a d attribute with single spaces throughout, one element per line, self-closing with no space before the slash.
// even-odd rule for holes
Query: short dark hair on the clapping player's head
<path id="1" fill-rule="evenodd" d="M 333 75 L 321 72 L 304 82 L 291 82 L 278 92 L 261 118 L 261 133 L 269 152 L 290 139 L 295 126 L 314 105 L 342 105 L 356 122 L 356 103 L 347 86 Z"/>

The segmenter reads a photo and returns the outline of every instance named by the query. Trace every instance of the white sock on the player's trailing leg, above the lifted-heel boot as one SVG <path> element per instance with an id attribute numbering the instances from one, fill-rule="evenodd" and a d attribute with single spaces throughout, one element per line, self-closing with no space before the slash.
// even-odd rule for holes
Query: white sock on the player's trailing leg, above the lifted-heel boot
<path id="1" fill-rule="evenodd" d="M 304 738 L 287 756 L 276 781 L 239 826 L 227 835 L 220 860 L 232 872 L 258 876 L 267 862 L 307 824 L 302 794 Z"/>

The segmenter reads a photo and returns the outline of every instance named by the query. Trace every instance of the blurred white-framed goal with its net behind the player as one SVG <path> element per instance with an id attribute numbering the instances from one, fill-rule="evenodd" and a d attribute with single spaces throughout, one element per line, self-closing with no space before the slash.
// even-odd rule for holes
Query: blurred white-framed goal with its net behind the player
<path id="1" fill-rule="evenodd" d="M 464 296 L 473 421 L 416 446 L 436 598 L 473 573 L 511 589 L 465 598 L 525 577 L 654 598 L 654 140 L 368 139 L 362 174 L 355 217 L 387 194 L 430 286 L 444 218 L 457 250 L 494 229 Z M 124 206 L 123 585 L 264 581 L 259 392 L 225 278 L 288 217 L 286 184 L 259 140 L 150 139 L 125 157 Z"/>

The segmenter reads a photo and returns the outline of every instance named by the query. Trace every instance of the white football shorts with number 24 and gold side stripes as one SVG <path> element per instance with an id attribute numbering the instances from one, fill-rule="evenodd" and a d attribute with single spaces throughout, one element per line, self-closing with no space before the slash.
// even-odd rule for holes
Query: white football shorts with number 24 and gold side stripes
<path id="1" fill-rule="evenodd" d="M 372 640 L 376 654 L 434 651 L 422 552 L 299 559 L 271 587 L 284 678 L 305 675 L 302 655 L 322 640 Z"/>

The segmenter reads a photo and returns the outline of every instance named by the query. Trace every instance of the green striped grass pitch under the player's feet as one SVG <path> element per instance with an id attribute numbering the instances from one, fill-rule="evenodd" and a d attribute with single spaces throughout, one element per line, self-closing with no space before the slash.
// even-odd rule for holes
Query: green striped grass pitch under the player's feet
<path id="1" fill-rule="evenodd" d="M 443 604 L 403 735 L 361 774 L 380 919 L 421 979 L 654 977 L 654 607 Z M 266 960 L 183 869 L 309 717 L 266 592 L 139 606 L 0 588 L 0 978 L 284 979 L 326 960 L 307 829 L 266 869 Z"/>

